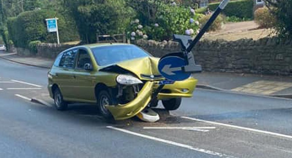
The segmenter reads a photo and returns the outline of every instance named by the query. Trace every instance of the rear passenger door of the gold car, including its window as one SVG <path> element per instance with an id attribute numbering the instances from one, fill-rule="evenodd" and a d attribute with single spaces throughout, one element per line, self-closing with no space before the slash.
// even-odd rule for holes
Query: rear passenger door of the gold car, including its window
<path id="1" fill-rule="evenodd" d="M 66 100 L 74 98 L 74 69 L 77 57 L 77 49 L 65 52 L 60 60 L 60 70 L 56 73 L 58 86 Z"/>

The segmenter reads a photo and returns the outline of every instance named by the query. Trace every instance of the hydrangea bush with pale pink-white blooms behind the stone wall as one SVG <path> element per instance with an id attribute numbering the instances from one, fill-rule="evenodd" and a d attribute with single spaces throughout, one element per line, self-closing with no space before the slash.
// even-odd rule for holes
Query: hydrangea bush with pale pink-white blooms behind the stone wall
<path id="1" fill-rule="evenodd" d="M 181 6 L 175 2 L 154 1 L 152 5 L 155 6 L 153 7 L 155 10 L 151 11 L 155 13 L 152 17 L 135 19 L 131 23 L 128 29 L 131 39 L 163 41 L 172 39 L 173 34 L 195 36 L 198 33 L 201 26 L 199 18 L 204 15 L 196 13 L 193 8 Z"/>

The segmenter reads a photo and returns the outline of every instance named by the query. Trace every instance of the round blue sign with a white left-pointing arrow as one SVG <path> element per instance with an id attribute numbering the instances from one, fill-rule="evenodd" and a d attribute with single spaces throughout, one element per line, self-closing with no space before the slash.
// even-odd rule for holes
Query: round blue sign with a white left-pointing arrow
<path id="1" fill-rule="evenodd" d="M 178 56 L 166 56 L 161 58 L 158 64 L 160 74 L 166 79 L 173 81 L 183 81 L 191 76 L 190 72 L 183 72 L 182 67 L 187 62 Z"/>

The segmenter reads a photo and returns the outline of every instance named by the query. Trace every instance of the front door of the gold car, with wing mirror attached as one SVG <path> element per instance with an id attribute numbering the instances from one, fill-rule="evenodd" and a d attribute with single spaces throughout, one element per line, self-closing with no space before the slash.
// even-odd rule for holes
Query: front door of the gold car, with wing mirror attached
<path id="1" fill-rule="evenodd" d="M 93 64 L 88 51 L 84 48 L 79 48 L 76 61 L 74 94 L 80 101 L 95 102 L 95 77 L 93 76 Z M 90 65 L 91 69 L 89 69 L 88 65 Z"/>

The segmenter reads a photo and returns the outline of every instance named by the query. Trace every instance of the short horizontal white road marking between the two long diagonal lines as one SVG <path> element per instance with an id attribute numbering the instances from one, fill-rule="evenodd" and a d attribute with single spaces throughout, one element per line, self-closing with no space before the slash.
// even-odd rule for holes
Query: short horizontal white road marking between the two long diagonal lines
<path id="1" fill-rule="evenodd" d="M 187 131 L 208 132 L 208 129 L 215 129 L 216 127 L 143 127 L 143 129 L 181 129 Z"/>

